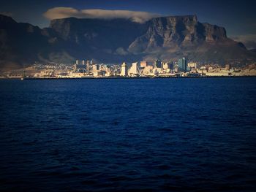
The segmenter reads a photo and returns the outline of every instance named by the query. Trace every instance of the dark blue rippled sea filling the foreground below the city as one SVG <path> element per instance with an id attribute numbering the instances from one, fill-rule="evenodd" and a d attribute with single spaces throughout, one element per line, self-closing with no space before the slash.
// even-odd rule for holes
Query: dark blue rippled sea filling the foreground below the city
<path id="1" fill-rule="evenodd" d="M 1 80 L 0 191 L 255 191 L 256 78 Z"/>

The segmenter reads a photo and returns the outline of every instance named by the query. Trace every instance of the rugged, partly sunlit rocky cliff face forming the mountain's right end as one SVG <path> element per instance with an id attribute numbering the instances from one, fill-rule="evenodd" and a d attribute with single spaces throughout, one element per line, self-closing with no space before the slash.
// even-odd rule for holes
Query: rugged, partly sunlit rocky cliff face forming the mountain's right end
<path id="1" fill-rule="evenodd" d="M 196 16 L 154 18 L 148 31 L 129 45 L 148 60 L 187 56 L 194 61 L 222 62 L 255 58 L 243 44 L 227 38 L 225 28 L 200 23 Z"/>

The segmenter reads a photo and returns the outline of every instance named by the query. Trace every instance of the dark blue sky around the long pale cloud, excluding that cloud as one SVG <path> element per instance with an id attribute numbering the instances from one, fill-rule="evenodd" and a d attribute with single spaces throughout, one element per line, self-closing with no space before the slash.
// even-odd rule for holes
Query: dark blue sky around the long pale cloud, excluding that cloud
<path id="1" fill-rule="evenodd" d="M 229 37 L 256 42 L 256 2 L 202 0 L 0 0 L 0 12 L 11 15 L 18 22 L 39 27 L 49 25 L 43 15 L 53 7 L 74 9 L 108 9 L 152 12 L 159 15 L 197 15 L 200 22 L 224 26 Z"/>

